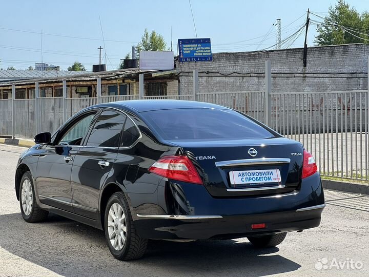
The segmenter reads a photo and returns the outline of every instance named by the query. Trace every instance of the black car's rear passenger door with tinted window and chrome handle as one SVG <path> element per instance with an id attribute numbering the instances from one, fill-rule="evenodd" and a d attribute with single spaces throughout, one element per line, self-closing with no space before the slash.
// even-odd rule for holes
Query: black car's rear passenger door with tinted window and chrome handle
<path id="1" fill-rule="evenodd" d="M 77 214 L 97 219 L 100 188 L 115 163 L 126 118 L 117 110 L 103 110 L 76 153 L 71 186 L 73 207 Z"/>

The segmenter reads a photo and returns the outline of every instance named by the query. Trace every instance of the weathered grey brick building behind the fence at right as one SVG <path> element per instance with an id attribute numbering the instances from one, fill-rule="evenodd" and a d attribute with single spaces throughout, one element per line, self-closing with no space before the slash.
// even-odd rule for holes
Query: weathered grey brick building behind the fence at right
<path id="1" fill-rule="evenodd" d="M 176 63 L 180 93 L 192 93 L 192 71 L 199 70 L 199 92 L 264 89 L 266 60 L 272 65 L 272 91 L 341 91 L 367 89 L 369 45 L 348 44 L 264 52 L 214 53 L 212 62 Z"/>

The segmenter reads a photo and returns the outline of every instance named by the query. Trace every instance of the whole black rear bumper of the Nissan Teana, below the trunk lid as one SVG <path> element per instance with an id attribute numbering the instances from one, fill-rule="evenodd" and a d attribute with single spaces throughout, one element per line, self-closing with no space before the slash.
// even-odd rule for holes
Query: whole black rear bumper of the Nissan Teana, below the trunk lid
<path id="1" fill-rule="evenodd" d="M 175 186 L 181 197 L 173 201 L 188 208 L 187 214 L 137 211 L 135 225 L 143 238 L 199 240 L 299 231 L 319 226 L 325 207 L 319 173 L 302 180 L 298 191 L 269 196 L 217 199 L 200 185 Z M 260 223 L 265 228 L 252 229 Z"/>

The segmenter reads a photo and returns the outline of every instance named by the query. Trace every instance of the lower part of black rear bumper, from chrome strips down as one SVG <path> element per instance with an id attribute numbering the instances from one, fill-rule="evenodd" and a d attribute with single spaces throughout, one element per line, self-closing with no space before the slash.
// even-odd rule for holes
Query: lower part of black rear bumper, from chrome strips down
<path id="1" fill-rule="evenodd" d="M 140 235 L 150 239 L 226 239 L 299 231 L 319 226 L 325 204 L 295 211 L 251 215 L 147 215 L 136 221 Z M 263 229 L 252 224 L 265 223 Z"/>

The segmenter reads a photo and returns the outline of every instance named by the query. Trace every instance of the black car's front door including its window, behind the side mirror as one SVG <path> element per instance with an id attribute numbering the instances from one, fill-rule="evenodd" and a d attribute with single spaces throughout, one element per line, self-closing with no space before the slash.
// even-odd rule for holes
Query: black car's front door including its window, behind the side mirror
<path id="1" fill-rule="evenodd" d="M 80 143 L 88 133 L 96 111 L 78 116 L 56 135 L 52 145 L 42 146 L 39 156 L 36 186 L 40 202 L 73 212 L 71 171 Z"/>

